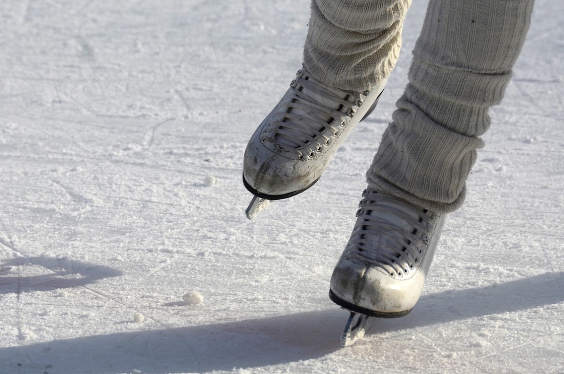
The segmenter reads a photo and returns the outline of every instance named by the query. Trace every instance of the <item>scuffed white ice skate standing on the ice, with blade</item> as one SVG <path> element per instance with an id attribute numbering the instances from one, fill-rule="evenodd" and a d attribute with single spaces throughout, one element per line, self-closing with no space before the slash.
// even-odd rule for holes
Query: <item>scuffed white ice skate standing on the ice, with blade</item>
<path id="1" fill-rule="evenodd" d="M 393 318 L 411 311 L 446 218 L 373 190 L 364 191 L 356 216 L 329 291 L 333 302 L 351 311 L 343 345 L 364 335 L 368 317 Z M 360 319 L 356 325 L 355 316 Z"/>

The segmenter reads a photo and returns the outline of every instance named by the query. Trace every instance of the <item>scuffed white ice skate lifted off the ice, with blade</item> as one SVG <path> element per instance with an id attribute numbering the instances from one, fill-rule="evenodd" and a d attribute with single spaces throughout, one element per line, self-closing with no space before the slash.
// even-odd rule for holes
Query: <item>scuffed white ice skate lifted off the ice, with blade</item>
<path id="1" fill-rule="evenodd" d="M 297 195 L 317 182 L 343 140 L 372 112 L 385 85 L 343 91 L 298 71 L 246 147 L 243 183 L 255 195 L 247 217 L 268 200 Z"/>

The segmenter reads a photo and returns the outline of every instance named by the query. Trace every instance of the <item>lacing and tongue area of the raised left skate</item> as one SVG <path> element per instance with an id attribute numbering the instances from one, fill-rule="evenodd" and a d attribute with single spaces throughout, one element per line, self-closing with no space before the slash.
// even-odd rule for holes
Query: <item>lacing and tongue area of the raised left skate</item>
<path id="1" fill-rule="evenodd" d="M 290 102 L 279 121 L 273 121 L 263 142 L 272 142 L 281 150 L 294 153 L 298 159 L 314 157 L 338 137 L 368 91 L 343 91 L 298 71 L 290 85 Z M 331 103 L 338 109 L 328 107 Z"/>

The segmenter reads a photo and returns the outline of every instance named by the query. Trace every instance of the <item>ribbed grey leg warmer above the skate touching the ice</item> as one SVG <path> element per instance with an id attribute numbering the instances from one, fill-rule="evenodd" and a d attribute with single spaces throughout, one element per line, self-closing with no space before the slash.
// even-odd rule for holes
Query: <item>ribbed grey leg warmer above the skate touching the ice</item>
<path id="1" fill-rule="evenodd" d="M 369 187 L 437 213 L 459 208 L 483 146 L 479 136 L 490 126 L 488 108 L 503 98 L 533 2 L 430 0 Z"/>

